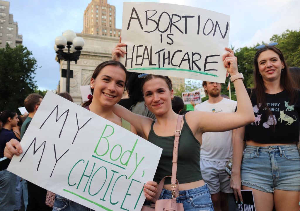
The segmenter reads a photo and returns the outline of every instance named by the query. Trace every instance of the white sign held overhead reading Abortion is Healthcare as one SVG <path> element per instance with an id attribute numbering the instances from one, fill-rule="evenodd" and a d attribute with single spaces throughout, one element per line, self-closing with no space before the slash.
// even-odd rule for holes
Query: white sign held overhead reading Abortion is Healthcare
<path id="1" fill-rule="evenodd" d="M 125 2 L 120 61 L 128 71 L 225 83 L 230 16 L 164 3 Z"/>

